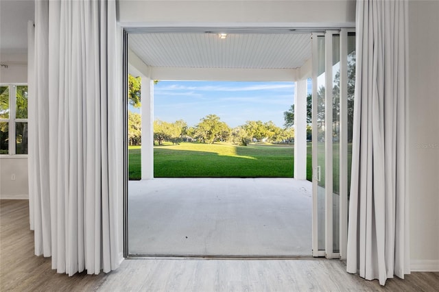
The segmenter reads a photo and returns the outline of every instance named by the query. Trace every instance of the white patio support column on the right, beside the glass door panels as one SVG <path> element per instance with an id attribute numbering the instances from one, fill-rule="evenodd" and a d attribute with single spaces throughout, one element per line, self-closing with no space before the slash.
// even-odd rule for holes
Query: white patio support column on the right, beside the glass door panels
<path id="1" fill-rule="evenodd" d="M 294 98 L 294 178 L 307 179 L 307 80 L 296 82 Z"/>

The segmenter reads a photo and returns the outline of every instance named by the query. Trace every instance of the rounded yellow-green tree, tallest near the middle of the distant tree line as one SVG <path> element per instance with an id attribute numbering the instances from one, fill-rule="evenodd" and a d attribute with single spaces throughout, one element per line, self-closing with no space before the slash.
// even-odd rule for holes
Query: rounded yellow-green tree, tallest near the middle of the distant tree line
<path id="1" fill-rule="evenodd" d="M 195 126 L 195 136 L 204 143 L 215 143 L 215 141 L 228 140 L 230 127 L 222 121 L 216 114 L 208 114 L 200 119 L 200 123 Z"/>

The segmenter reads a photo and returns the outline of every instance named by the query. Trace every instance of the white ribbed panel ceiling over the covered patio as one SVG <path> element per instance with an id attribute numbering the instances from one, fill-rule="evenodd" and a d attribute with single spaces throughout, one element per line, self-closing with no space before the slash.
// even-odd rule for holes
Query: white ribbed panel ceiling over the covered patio
<path id="1" fill-rule="evenodd" d="M 130 34 L 129 47 L 152 67 L 296 69 L 311 58 L 311 34 Z"/>

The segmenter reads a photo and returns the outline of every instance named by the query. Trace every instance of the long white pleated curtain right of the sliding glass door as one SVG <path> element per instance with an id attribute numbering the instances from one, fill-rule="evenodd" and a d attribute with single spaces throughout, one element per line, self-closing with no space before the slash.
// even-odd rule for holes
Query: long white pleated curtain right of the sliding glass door
<path id="1" fill-rule="evenodd" d="M 407 1 L 357 1 L 347 271 L 380 284 L 410 273 L 405 192 Z"/>

